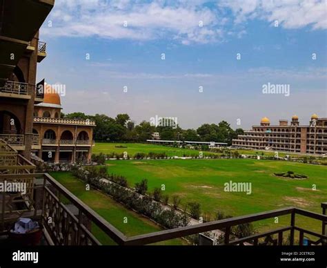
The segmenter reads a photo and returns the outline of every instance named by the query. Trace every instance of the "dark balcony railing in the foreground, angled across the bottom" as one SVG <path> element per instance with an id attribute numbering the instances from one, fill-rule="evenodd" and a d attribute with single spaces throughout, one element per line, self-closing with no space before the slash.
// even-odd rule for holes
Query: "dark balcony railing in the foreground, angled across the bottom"
<path id="1" fill-rule="evenodd" d="M 106 222 L 106 220 L 101 218 L 101 216 L 90 209 L 90 207 L 81 202 L 81 200 L 76 198 L 75 195 L 72 195 L 70 191 L 48 174 L 0 175 L 0 181 L 22 181 L 30 178 L 34 178 L 37 185 L 39 185 L 34 186 L 35 192 L 40 193 L 41 191 L 41 194 L 34 195 L 34 200 L 32 200 L 30 204 L 32 204 L 34 216 L 41 216 L 41 224 L 43 224 L 43 231 L 49 245 L 100 245 L 101 243 L 93 232 L 93 230 L 97 230 L 95 227 L 98 227 L 103 233 L 106 233 L 112 240 L 117 242 L 118 245 L 148 245 L 217 229 L 225 230 L 224 241 L 220 245 L 283 245 L 284 238 L 288 237 L 290 245 L 295 245 L 295 238 L 297 237 L 299 238 L 299 245 L 303 245 L 305 235 L 310 236 L 310 239 L 308 239 L 309 245 L 326 245 L 327 241 L 326 232 L 324 230 L 327 216 L 304 209 L 297 209 L 295 207 L 206 222 L 176 229 L 168 229 L 128 238 L 110 223 Z M 75 207 L 75 213 L 72 213 L 69 205 Z M 321 204 L 321 207 L 325 209 L 324 211 L 326 213 L 327 204 Z M 21 217 L 22 216 L 24 215 L 21 214 Z M 232 236 L 231 228 L 234 226 L 281 216 L 290 217 L 288 225 L 279 229 L 256 233 L 255 235 L 244 238 L 235 238 Z M 298 226 L 296 224 L 298 216 L 321 222 L 321 233 Z M 51 222 L 48 220 L 49 217 L 52 219 Z M 3 217 L 1 219 L 3 219 Z M 5 224 L 1 224 L 1 226 L 4 225 Z M 99 233 L 98 230 L 97 233 Z"/>

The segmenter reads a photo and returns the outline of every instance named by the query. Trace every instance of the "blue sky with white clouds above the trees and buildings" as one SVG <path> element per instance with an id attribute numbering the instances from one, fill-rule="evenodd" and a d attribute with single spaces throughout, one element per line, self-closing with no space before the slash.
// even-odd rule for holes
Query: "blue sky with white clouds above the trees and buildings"
<path id="1" fill-rule="evenodd" d="M 56 0 L 37 77 L 65 86 L 64 113 L 308 124 L 327 117 L 326 30 L 326 1 Z"/>

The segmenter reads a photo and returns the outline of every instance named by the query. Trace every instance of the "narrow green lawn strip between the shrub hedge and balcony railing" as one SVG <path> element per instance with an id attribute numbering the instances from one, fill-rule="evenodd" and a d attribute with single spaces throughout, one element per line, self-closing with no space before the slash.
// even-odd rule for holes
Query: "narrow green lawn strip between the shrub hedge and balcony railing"
<path id="1" fill-rule="evenodd" d="M 115 226 L 126 236 L 136 236 L 143 233 L 152 233 L 154 231 L 161 230 L 157 224 L 133 211 L 126 209 L 121 204 L 108 197 L 108 195 L 94 189 L 86 191 L 85 184 L 81 182 L 81 180 L 75 178 L 71 173 L 52 172 L 51 175 L 58 182 L 63 184 L 63 186 L 65 186 L 70 192 L 76 195 L 77 198 L 88 204 L 91 209 L 99 213 L 100 216 L 105 218 L 108 222 L 110 222 L 110 224 Z M 127 217 L 127 223 L 123 222 L 125 217 Z M 92 226 L 92 233 L 103 245 L 115 245 L 115 242 L 96 226 Z M 185 242 L 182 240 L 169 240 L 166 242 L 157 243 L 157 245 L 181 245 L 184 243 Z"/>

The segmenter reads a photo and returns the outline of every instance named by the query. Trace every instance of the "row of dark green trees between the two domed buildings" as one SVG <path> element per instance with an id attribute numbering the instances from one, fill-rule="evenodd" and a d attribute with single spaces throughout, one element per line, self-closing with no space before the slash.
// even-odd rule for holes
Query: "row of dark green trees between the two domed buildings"
<path id="1" fill-rule="evenodd" d="M 178 124 L 157 124 L 142 121 L 135 124 L 126 113 L 115 118 L 108 115 L 85 115 L 84 113 L 61 114 L 67 119 L 90 119 L 97 125 L 93 139 L 99 142 L 145 142 L 152 138 L 152 133 L 159 133 L 161 140 L 188 140 L 195 142 L 226 142 L 232 144 L 232 139 L 243 134 L 242 128 L 233 130 L 226 121 L 219 124 L 202 124 L 197 129 L 182 129 Z"/>

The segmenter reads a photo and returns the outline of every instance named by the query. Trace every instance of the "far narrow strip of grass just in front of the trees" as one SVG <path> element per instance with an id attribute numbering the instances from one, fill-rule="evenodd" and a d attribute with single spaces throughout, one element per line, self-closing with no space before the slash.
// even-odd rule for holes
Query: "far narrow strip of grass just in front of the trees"
<path id="1" fill-rule="evenodd" d="M 119 148 L 117 146 L 124 146 L 126 148 Z M 245 155 L 261 155 L 262 151 L 254 151 L 254 150 L 239 150 L 240 154 Z M 123 153 L 127 152 L 130 157 L 135 155 L 135 153 L 166 153 L 168 156 L 184 156 L 185 155 L 199 155 L 198 150 L 193 149 L 182 149 L 182 148 L 174 148 L 170 146 L 163 146 L 157 144 L 137 144 L 137 143 L 108 143 L 108 142 L 96 142 L 95 147 L 92 149 L 92 153 Z M 211 152 L 204 151 L 204 155 L 212 154 Z M 215 153 L 217 155 L 221 155 L 221 153 Z M 273 151 L 264 151 L 264 155 L 274 155 Z M 286 155 L 292 155 L 291 153 L 279 153 L 280 157 L 284 157 Z"/>

